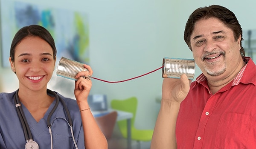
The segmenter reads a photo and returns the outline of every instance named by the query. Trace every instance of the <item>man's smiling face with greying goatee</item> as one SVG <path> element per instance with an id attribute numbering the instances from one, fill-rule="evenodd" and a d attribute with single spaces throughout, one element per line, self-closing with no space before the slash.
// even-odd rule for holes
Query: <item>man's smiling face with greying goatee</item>
<path id="1" fill-rule="evenodd" d="M 206 75 L 215 79 L 228 77 L 239 65 L 241 37 L 217 18 L 199 20 L 190 37 L 195 62 Z M 224 78 L 223 78 L 224 77 Z"/>

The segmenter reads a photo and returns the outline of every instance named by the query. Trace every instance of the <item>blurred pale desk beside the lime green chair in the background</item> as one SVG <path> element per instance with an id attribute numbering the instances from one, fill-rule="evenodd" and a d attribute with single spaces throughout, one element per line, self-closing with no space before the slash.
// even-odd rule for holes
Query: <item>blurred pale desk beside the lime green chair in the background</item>
<path id="1" fill-rule="evenodd" d="M 94 117 L 99 117 L 108 114 L 113 111 L 113 109 L 108 109 L 107 111 L 92 111 Z M 127 120 L 127 148 L 131 149 L 131 118 L 133 117 L 132 113 L 116 110 L 117 118 L 119 120 Z"/>

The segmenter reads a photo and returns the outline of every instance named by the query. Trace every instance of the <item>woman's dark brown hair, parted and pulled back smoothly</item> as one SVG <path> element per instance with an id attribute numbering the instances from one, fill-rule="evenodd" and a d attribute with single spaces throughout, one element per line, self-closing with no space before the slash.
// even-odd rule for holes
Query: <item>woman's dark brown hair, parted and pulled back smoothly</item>
<path id="1" fill-rule="evenodd" d="M 23 40 L 25 37 L 40 37 L 45 40 L 52 47 L 54 60 L 56 59 L 57 49 L 55 47 L 54 39 L 52 35 L 42 26 L 39 25 L 30 25 L 24 26 L 15 34 L 12 40 L 11 49 L 10 49 L 10 57 L 12 62 L 14 62 L 14 54 L 16 46 Z"/>

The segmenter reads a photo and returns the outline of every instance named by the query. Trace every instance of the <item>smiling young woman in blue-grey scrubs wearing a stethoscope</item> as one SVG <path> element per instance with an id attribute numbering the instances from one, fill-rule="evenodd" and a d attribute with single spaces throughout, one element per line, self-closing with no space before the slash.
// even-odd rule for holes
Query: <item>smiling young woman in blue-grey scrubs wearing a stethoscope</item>
<path id="1" fill-rule="evenodd" d="M 56 53 L 51 34 L 41 26 L 25 26 L 15 34 L 9 61 L 19 80 L 19 89 L 0 93 L 1 149 L 108 148 L 87 103 L 92 86 L 88 76 L 93 74 L 90 66 L 84 64 L 88 71 L 76 75 L 76 100 L 47 89 Z"/>

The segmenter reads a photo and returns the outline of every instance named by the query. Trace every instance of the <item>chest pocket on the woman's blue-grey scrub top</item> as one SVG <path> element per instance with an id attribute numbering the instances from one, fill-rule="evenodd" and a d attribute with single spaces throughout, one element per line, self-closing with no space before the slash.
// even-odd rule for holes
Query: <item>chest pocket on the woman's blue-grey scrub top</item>
<path id="1" fill-rule="evenodd" d="M 77 138 L 75 141 L 77 142 Z M 75 149 L 75 144 L 72 137 L 64 135 L 54 135 L 54 149 Z"/>

